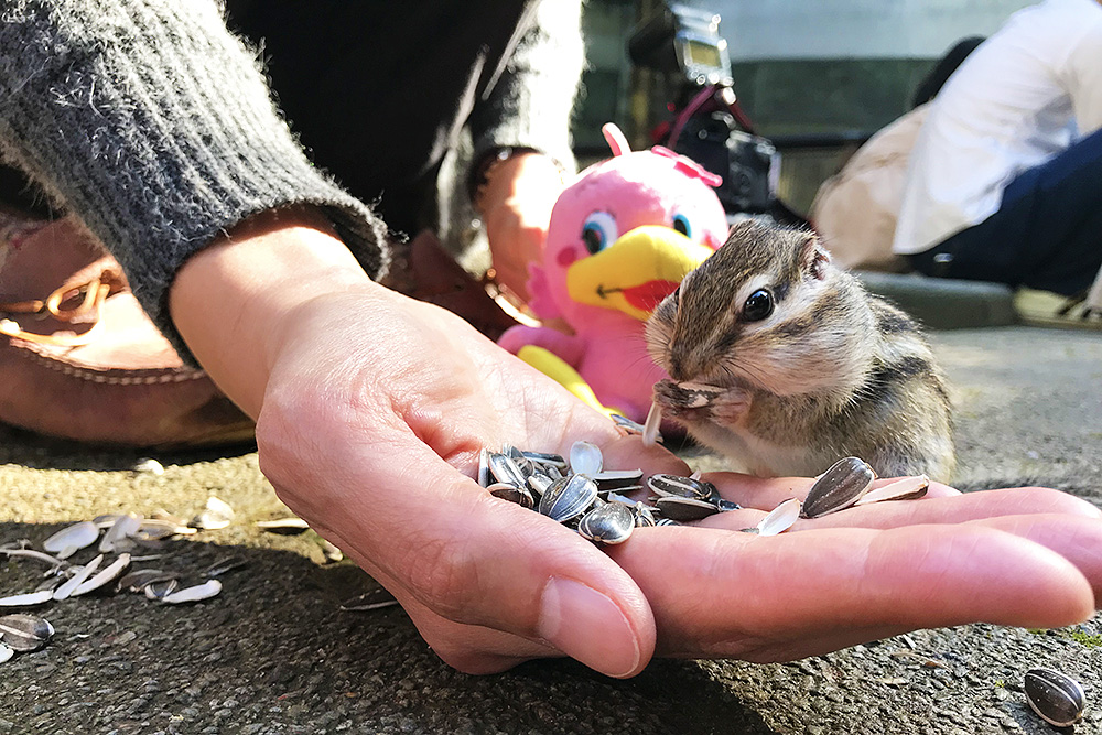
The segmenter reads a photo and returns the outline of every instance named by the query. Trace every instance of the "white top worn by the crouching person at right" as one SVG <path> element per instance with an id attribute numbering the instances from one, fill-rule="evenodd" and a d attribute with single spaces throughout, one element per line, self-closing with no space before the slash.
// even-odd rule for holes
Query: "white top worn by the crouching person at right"
<path id="1" fill-rule="evenodd" d="M 1017 174 L 1100 127 L 1102 6 L 1046 0 L 1019 10 L 931 102 L 893 250 L 922 252 L 980 224 Z"/>

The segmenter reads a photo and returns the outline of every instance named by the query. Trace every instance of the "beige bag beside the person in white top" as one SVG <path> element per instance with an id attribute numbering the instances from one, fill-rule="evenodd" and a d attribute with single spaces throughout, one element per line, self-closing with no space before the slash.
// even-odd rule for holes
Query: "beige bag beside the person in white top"
<path id="1" fill-rule="evenodd" d="M 878 131 L 819 187 L 809 218 L 842 267 L 910 270 L 905 258 L 892 252 L 892 240 L 907 161 L 926 111 L 927 105 L 916 107 Z"/>

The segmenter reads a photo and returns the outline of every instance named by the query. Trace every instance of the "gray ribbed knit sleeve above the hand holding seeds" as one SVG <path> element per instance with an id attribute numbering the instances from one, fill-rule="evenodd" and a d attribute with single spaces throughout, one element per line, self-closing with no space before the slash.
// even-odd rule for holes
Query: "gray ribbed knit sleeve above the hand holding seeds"
<path id="1" fill-rule="evenodd" d="M 104 241 L 177 348 L 175 272 L 252 214 L 318 205 L 369 274 L 387 264 L 385 226 L 311 165 L 214 0 L 4 0 L 0 155 Z"/>

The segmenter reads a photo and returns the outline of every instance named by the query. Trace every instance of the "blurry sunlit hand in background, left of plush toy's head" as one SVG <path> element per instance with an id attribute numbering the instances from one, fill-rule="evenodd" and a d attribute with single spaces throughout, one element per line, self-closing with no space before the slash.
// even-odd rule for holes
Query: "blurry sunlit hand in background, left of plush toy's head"
<path id="1" fill-rule="evenodd" d="M 551 208 L 562 186 L 554 161 L 521 153 L 494 165 L 478 196 L 496 280 L 521 301 L 530 296 L 528 266 L 542 260 Z"/>

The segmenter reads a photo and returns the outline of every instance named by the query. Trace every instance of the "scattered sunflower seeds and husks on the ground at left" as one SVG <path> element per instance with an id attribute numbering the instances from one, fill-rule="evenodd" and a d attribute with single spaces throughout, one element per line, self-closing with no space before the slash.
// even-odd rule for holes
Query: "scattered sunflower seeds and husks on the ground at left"
<path id="1" fill-rule="evenodd" d="M 0 556 L 47 568 L 35 590 L 0 597 L 0 608 L 40 607 L 89 594 L 119 592 L 144 594 L 149 599 L 168 605 L 208 599 L 222 592 L 222 582 L 216 577 L 241 566 L 242 561 L 222 560 L 198 573 L 205 581 L 187 586 L 181 585 L 187 577 L 184 573 L 133 569 L 132 565 L 165 556 L 162 553 L 141 555 L 139 551 L 155 552 L 166 541 L 199 530 L 225 528 L 233 517 L 234 509 L 229 505 L 210 497 L 206 507 L 191 520 L 165 511 L 158 511 L 152 518 L 112 514 L 63 528 L 43 541 L 41 550 L 33 549 L 25 539 L 0 544 Z M 87 559 L 74 561 L 78 556 Z M 0 662 L 17 652 L 42 648 L 53 634 L 50 621 L 37 615 L 23 612 L 0 617 Z"/>

